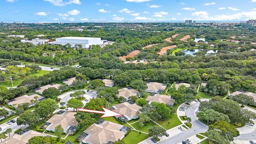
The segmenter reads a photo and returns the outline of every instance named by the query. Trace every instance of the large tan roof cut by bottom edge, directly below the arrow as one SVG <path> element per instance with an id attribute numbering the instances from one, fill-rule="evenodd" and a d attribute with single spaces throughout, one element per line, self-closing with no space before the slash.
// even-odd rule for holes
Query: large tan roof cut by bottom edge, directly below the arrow
<path id="1" fill-rule="evenodd" d="M 89 134 L 85 141 L 93 144 L 106 143 L 108 141 L 115 142 L 123 139 L 125 132 L 119 131 L 123 125 L 105 121 L 102 124 L 93 124 L 84 132 Z"/>

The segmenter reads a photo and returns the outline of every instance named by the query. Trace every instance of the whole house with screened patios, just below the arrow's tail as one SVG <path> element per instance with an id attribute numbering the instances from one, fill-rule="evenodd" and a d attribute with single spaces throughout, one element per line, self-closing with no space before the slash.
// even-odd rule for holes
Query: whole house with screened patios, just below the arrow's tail
<path id="1" fill-rule="evenodd" d="M 76 112 L 60 110 L 52 116 L 41 128 L 48 131 L 55 131 L 55 127 L 61 125 L 65 133 L 73 133 L 76 130 L 78 122 L 75 118 Z"/>

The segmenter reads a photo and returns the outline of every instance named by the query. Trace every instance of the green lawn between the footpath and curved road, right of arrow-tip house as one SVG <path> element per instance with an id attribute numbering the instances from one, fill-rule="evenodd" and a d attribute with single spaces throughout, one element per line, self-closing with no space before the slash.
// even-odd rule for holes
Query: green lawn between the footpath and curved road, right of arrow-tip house
<path id="1" fill-rule="evenodd" d="M 169 124 L 170 122 L 170 124 Z M 157 123 L 163 126 L 166 130 L 171 129 L 172 127 L 182 124 L 176 114 L 168 116 L 164 121 L 159 120 Z"/>

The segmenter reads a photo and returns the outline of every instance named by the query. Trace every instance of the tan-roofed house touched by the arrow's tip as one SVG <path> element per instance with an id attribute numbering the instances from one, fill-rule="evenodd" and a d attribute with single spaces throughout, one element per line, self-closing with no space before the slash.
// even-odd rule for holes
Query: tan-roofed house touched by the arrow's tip
<path id="1" fill-rule="evenodd" d="M 138 112 L 141 108 L 142 107 L 136 105 L 135 103 L 130 104 L 129 102 L 123 102 L 113 106 L 111 109 L 123 115 L 117 117 L 121 122 L 127 122 L 138 118 Z"/>

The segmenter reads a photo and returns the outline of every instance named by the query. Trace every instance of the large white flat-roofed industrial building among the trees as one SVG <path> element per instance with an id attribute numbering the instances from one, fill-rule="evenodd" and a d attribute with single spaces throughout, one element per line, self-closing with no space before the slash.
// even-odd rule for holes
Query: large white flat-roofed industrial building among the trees
<path id="1" fill-rule="evenodd" d="M 71 47 L 81 44 L 84 49 L 87 49 L 91 45 L 103 45 L 103 41 L 97 37 L 61 37 L 56 38 L 56 42 L 53 42 L 53 44 L 70 44 Z"/>

